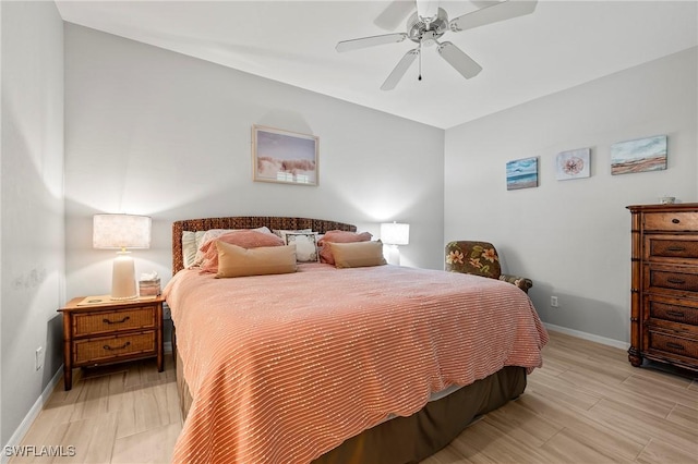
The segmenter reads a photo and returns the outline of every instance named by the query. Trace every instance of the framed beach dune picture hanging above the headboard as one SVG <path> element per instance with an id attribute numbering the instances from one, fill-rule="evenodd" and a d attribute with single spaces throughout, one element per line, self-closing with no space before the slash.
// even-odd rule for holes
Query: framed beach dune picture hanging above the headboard
<path id="1" fill-rule="evenodd" d="M 254 181 L 317 185 L 318 144 L 314 135 L 253 125 Z"/>

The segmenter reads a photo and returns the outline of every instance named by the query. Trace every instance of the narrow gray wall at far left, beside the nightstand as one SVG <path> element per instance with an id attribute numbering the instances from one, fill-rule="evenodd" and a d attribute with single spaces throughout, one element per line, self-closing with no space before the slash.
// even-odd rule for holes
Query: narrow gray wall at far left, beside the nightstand
<path id="1" fill-rule="evenodd" d="M 62 363 L 63 23 L 53 2 L 2 2 L 1 413 L 7 443 Z M 35 370 L 35 350 L 46 352 Z M 40 443 L 36 443 L 40 444 Z"/>

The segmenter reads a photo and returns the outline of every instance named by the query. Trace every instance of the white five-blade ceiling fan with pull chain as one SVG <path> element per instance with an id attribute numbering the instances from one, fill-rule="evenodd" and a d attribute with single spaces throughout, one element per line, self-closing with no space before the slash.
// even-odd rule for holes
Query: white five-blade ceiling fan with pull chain
<path id="1" fill-rule="evenodd" d="M 417 48 L 409 50 L 400 61 L 398 61 L 393 72 L 390 72 L 381 86 L 382 90 L 394 89 L 418 57 L 420 58 L 419 80 L 421 81 L 422 47 L 433 45 L 436 45 L 438 54 L 465 78 L 474 77 L 482 71 L 482 66 L 450 41 L 438 41 L 438 39 L 448 30 L 458 33 L 530 14 L 535 10 L 538 1 L 478 1 L 476 3 L 483 3 L 484 7 L 450 21 L 448 20 L 446 11 L 438 7 L 438 0 L 416 0 L 416 3 L 417 11 L 407 20 L 406 33 L 362 37 L 342 40 L 337 44 L 336 50 L 339 52 L 377 45 L 397 44 L 405 39 L 410 39 L 418 45 Z M 393 29 L 413 9 L 413 5 L 414 3 L 411 1 L 395 0 L 378 15 L 375 24 L 384 28 Z"/>

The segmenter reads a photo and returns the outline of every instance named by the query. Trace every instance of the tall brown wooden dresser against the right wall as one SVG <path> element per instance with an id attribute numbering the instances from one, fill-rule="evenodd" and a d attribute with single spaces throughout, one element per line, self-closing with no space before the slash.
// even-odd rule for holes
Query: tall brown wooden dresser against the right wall
<path id="1" fill-rule="evenodd" d="M 637 205 L 631 213 L 630 349 L 698 370 L 698 203 Z"/>

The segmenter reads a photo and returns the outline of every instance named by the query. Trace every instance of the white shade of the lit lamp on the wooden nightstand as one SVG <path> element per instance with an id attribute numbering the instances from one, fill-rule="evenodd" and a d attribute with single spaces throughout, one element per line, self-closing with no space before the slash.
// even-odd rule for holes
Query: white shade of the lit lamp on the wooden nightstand
<path id="1" fill-rule="evenodd" d="M 135 215 L 95 215 L 92 245 L 95 248 L 151 247 L 151 218 Z"/>

